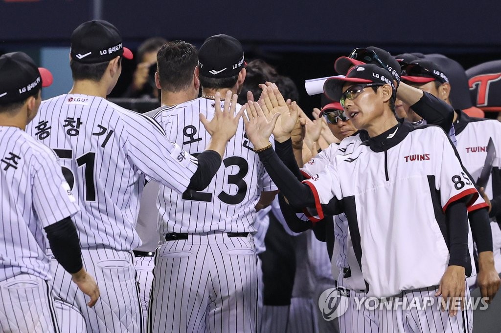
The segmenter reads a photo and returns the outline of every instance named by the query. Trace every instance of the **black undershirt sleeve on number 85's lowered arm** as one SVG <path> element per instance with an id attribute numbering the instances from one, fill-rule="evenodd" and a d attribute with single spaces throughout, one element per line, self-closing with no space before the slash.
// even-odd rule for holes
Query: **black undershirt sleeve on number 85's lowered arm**
<path id="1" fill-rule="evenodd" d="M 468 267 L 468 213 L 464 202 L 451 203 L 445 210 L 445 223 L 449 236 L 449 266 Z"/>

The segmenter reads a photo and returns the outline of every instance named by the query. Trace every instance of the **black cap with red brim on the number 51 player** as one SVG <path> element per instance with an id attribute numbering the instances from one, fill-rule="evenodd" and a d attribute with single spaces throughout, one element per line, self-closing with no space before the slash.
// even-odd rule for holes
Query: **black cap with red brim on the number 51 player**
<path id="1" fill-rule="evenodd" d="M 120 31 L 108 21 L 94 19 L 80 24 L 71 34 L 71 58 L 82 63 L 98 63 L 121 55 L 132 59 L 130 49 L 122 46 Z"/>

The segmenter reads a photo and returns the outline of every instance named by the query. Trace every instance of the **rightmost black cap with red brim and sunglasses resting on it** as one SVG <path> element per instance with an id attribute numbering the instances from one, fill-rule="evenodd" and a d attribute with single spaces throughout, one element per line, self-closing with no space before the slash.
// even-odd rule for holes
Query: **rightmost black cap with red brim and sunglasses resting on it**
<path id="1" fill-rule="evenodd" d="M 431 60 L 418 59 L 402 66 L 402 80 L 415 83 L 439 81 L 449 83 L 449 78 L 442 67 Z"/>

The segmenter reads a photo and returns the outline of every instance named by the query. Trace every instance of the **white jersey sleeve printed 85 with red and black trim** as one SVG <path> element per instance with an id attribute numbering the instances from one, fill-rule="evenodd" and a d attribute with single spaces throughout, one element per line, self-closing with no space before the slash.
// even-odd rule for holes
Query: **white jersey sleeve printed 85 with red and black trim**
<path id="1" fill-rule="evenodd" d="M 437 147 L 435 188 L 440 191 L 440 201 L 445 212 L 454 201 L 466 200 L 469 207 L 478 198 L 478 191 L 461 164 L 459 155 L 446 134 L 435 130 L 435 146 Z"/>

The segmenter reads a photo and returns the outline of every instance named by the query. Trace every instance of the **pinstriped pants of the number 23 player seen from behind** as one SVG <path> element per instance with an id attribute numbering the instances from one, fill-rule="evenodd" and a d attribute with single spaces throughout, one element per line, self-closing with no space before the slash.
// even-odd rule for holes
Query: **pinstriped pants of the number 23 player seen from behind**
<path id="1" fill-rule="evenodd" d="M 257 303 L 252 235 L 190 234 L 157 248 L 148 331 L 254 333 Z"/>

